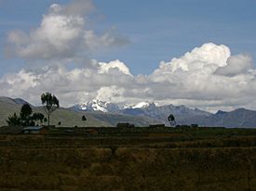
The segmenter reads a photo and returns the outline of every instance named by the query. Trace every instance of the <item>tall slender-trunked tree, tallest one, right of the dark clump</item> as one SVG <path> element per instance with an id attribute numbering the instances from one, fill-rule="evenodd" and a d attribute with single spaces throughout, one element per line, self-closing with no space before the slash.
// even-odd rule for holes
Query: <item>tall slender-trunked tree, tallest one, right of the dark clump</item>
<path id="1" fill-rule="evenodd" d="M 41 96 L 42 104 L 44 105 L 45 111 L 47 113 L 47 121 L 49 126 L 49 117 L 52 114 L 53 111 L 55 111 L 57 108 L 60 108 L 59 99 L 51 95 L 49 92 L 42 94 Z"/>

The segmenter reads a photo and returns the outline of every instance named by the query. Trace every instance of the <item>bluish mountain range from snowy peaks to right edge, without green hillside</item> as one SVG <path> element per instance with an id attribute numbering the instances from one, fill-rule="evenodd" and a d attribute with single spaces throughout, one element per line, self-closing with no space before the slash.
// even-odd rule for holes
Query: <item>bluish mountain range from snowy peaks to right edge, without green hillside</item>
<path id="1" fill-rule="evenodd" d="M 212 114 L 198 108 L 187 108 L 185 106 L 157 106 L 157 104 L 150 102 L 141 102 L 136 105 L 117 105 L 95 99 L 84 104 L 75 105 L 71 109 L 96 111 L 102 114 L 141 116 L 167 125 L 169 125 L 167 118 L 171 113 L 175 116 L 178 124 L 196 123 L 200 126 L 212 127 L 256 127 L 256 111 L 245 108 L 237 108 L 230 112 L 219 110 Z"/>

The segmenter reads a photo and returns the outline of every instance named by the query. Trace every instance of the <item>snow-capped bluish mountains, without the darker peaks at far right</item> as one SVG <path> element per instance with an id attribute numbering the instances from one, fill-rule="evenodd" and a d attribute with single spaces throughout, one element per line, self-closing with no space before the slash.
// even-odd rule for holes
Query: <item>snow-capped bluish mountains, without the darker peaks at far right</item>
<path id="1" fill-rule="evenodd" d="M 98 111 L 104 113 L 118 113 L 131 116 L 149 117 L 168 124 L 167 118 L 171 113 L 177 121 L 191 123 L 209 117 L 211 113 L 198 108 L 186 108 L 185 106 L 158 106 L 154 102 L 141 102 L 136 105 L 118 105 L 110 102 L 94 99 L 84 104 L 72 107 L 74 110 Z"/>

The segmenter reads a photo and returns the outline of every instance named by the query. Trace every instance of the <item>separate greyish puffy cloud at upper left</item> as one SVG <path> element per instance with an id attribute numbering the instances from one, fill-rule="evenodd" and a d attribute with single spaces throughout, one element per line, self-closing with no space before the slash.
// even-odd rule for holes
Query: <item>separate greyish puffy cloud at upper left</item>
<path id="1" fill-rule="evenodd" d="M 93 9 L 89 0 L 74 1 L 67 6 L 51 5 L 40 26 L 30 33 L 9 32 L 7 54 L 33 60 L 63 59 L 128 43 L 113 30 L 97 34 L 89 29 L 88 19 Z"/>

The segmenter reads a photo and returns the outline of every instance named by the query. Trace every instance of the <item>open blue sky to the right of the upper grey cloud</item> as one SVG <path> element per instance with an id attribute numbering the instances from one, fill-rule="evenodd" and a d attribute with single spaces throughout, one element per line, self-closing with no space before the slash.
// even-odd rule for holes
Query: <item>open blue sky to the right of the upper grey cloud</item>
<path id="1" fill-rule="evenodd" d="M 152 71 L 160 60 L 182 56 L 208 42 L 228 45 L 235 54 L 256 56 L 255 1 L 100 2 L 96 5 L 108 22 L 129 36 L 131 45 L 118 55 L 136 73 Z"/>

